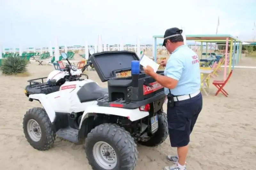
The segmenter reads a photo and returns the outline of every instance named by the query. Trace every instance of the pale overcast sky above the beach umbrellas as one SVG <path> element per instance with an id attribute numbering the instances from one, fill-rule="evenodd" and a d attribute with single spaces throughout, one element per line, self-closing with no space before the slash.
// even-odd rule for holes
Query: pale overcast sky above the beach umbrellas
<path id="1" fill-rule="evenodd" d="M 256 0 L 0 0 L 0 41 L 5 48 L 103 43 L 153 43 L 171 27 L 186 34 L 253 37 Z M 162 43 L 162 40 L 159 40 Z"/>

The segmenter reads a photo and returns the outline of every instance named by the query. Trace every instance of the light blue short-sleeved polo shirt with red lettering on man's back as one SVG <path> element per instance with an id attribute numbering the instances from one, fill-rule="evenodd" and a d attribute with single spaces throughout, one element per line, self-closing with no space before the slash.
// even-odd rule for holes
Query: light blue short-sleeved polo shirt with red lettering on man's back
<path id="1" fill-rule="evenodd" d="M 182 45 L 172 52 L 166 63 L 164 75 L 178 80 L 176 87 L 171 89 L 173 95 L 188 95 L 200 90 L 199 61 L 196 53 L 187 45 Z M 167 95 L 169 90 L 164 88 L 164 93 Z"/>

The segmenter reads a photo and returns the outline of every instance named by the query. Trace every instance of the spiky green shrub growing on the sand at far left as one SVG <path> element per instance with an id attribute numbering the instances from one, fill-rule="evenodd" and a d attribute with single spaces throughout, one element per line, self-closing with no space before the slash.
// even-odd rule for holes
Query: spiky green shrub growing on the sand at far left
<path id="1" fill-rule="evenodd" d="M 20 57 L 8 57 L 2 60 L 0 70 L 5 75 L 15 75 L 18 73 L 27 72 L 28 61 Z"/>

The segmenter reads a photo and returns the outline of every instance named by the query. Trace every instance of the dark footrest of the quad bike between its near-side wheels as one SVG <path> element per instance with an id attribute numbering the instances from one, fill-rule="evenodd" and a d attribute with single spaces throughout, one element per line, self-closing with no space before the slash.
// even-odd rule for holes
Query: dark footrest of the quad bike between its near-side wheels
<path id="1" fill-rule="evenodd" d="M 56 135 L 73 143 L 78 142 L 78 130 L 74 128 L 60 129 L 56 132 Z"/>

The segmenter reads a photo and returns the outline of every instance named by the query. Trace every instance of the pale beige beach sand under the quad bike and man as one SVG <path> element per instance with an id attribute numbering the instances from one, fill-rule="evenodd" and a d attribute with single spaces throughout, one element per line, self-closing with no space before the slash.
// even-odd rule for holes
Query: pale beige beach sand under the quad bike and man
<path id="1" fill-rule="evenodd" d="M 76 55 L 76 59 L 81 59 Z M 253 65 L 256 60 L 244 57 L 239 65 Z M 75 145 L 57 137 L 48 151 L 33 149 L 24 137 L 23 115 L 29 108 L 39 107 L 29 102 L 23 93 L 27 80 L 47 77 L 54 70 L 50 65 L 31 62 L 30 77 L 0 76 L 0 169 L 3 170 L 91 170 L 83 145 Z M 101 83 L 96 71 L 88 71 L 89 78 Z M 222 78 L 222 72 L 217 79 Z M 241 170 L 256 167 L 256 69 L 235 69 L 226 85 L 228 98 L 214 96 L 216 88 L 210 86 L 209 96 L 203 96 L 200 113 L 189 144 L 189 170 Z M 164 106 L 166 110 L 166 106 Z M 155 148 L 138 146 L 139 160 L 135 170 L 157 170 L 171 165 L 165 157 L 176 154 L 169 138 Z"/>

